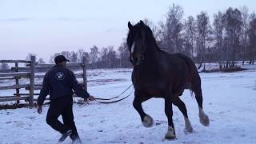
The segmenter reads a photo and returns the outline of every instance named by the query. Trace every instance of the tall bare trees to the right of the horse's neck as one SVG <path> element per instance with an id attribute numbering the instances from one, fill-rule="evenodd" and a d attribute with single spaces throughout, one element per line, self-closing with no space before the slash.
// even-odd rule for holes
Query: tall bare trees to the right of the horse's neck
<path id="1" fill-rule="evenodd" d="M 183 53 L 197 62 L 218 62 L 219 69 L 232 68 L 238 61 L 254 64 L 256 58 L 256 14 L 247 6 L 228 8 L 213 15 L 206 11 L 183 18 L 181 6 L 170 6 L 166 19 L 157 26 L 148 22 L 160 47 Z"/>

